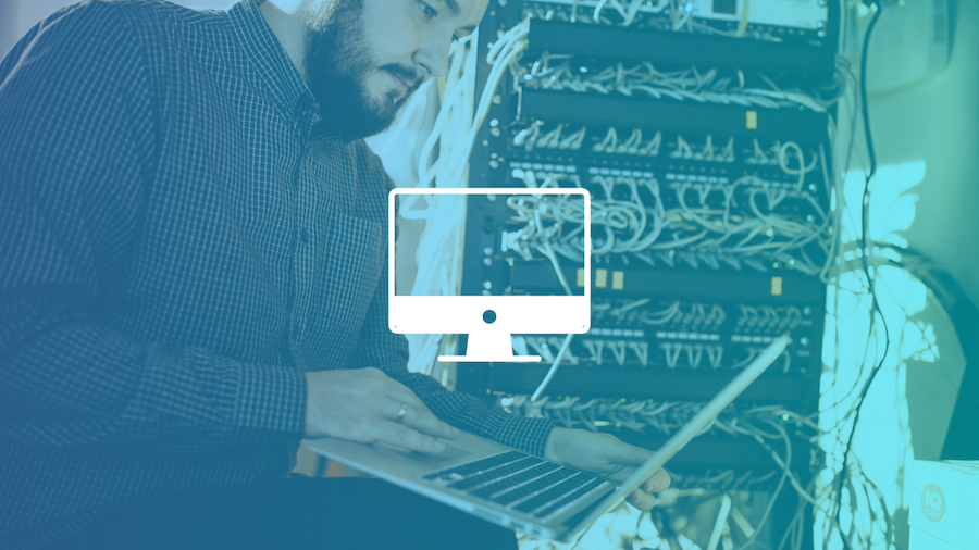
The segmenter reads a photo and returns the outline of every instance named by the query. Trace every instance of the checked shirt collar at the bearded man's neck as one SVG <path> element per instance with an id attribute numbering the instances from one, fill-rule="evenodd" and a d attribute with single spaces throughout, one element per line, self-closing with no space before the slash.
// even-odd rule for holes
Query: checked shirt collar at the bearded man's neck
<path id="1" fill-rule="evenodd" d="M 287 117 L 296 117 L 306 103 L 315 100 L 306 80 L 286 55 L 259 11 L 262 0 L 241 0 L 228 10 L 235 36 L 258 72 L 272 101 Z"/>

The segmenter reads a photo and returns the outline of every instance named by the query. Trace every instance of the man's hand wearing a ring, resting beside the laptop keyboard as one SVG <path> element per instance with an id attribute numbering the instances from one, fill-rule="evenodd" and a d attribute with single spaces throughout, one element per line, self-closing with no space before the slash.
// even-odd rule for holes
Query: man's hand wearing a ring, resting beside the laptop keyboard
<path id="1" fill-rule="evenodd" d="M 437 453 L 459 430 L 439 421 L 405 385 L 377 368 L 306 374 L 305 437 L 338 437 Z M 399 420 L 401 404 L 407 405 Z"/>

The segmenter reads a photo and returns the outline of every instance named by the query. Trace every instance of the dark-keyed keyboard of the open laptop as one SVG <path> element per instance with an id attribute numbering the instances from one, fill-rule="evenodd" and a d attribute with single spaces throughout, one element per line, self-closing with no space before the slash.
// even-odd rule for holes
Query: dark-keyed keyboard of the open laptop
<path id="1" fill-rule="evenodd" d="M 595 475 L 519 451 L 443 470 L 425 476 L 425 480 L 542 521 L 609 485 Z"/>

